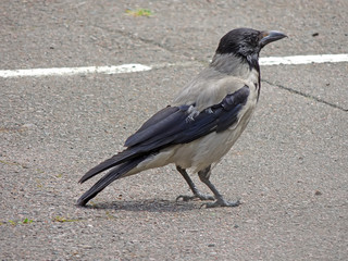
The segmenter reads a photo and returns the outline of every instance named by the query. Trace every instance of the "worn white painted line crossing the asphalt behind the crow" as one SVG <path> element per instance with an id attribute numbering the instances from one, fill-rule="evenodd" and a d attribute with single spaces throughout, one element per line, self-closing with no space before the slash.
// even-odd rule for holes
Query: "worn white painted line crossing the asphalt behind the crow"
<path id="1" fill-rule="evenodd" d="M 319 55 L 294 55 L 294 57 L 269 57 L 260 58 L 260 65 L 279 64 L 309 64 L 309 63 L 338 63 L 348 62 L 348 54 L 319 54 Z M 69 76 L 78 74 L 120 74 L 150 71 L 165 66 L 187 66 L 197 62 L 169 63 L 169 64 L 123 64 L 113 66 L 87 66 L 87 67 L 52 67 L 52 69 L 27 69 L 27 70 L 0 70 L 0 77 L 40 77 L 40 76 Z"/>

